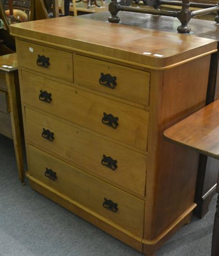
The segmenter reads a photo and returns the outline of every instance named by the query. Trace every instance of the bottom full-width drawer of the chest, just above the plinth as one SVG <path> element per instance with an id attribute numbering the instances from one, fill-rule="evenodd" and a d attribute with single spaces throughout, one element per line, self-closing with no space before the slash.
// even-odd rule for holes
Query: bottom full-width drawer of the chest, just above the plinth
<path id="1" fill-rule="evenodd" d="M 144 200 L 34 147 L 28 146 L 28 156 L 29 174 L 35 179 L 55 189 L 59 195 L 68 196 L 79 207 L 86 207 L 87 212 L 99 214 L 135 236 L 143 237 Z"/>

